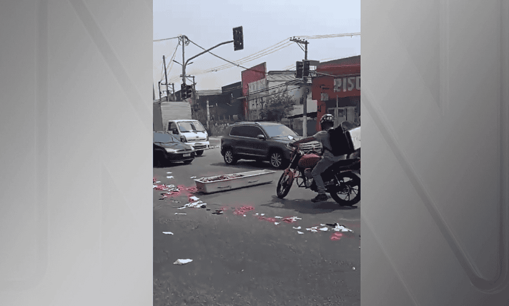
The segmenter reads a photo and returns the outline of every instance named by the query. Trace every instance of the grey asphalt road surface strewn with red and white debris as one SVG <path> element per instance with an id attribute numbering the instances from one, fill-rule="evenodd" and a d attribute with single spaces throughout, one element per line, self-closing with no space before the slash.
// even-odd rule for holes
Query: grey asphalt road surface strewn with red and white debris
<path id="1" fill-rule="evenodd" d="M 219 140 L 211 139 L 211 145 Z M 192 176 L 265 168 L 271 169 L 254 161 L 227 166 L 214 148 L 190 165 L 154 168 L 154 177 L 156 185 L 195 187 Z M 331 198 L 312 203 L 315 193 L 296 185 L 279 199 L 281 173 L 266 185 L 192 193 L 206 208 L 178 209 L 190 194 L 162 198 L 165 191 L 154 189 L 154 305 L 360 305 L 361 203 L 346 208 Z M 235 213 L 241 207 L 251 210 Z M 275 217 L 301 219 L 287 223 Z M 335 223 L 353 232 L 333 231 Z M 313 226 L 328 230 L 306 230 Z M 193 261 L 173 264 L 178 259 Z"/>

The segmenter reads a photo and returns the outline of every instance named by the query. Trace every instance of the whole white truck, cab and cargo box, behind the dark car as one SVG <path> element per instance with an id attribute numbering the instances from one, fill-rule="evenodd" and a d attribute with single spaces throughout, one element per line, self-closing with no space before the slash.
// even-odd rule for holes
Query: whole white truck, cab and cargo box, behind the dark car
<path id="1" fill-rule="evenodd" d="M 180 141 L 194 147 L 197 156 L 210 149 L 208 133 L 200 121 L 192 119 L 189 103 L 155 100 L 153 109 L 154 132 L 168 132 L 177 136 Z"/>

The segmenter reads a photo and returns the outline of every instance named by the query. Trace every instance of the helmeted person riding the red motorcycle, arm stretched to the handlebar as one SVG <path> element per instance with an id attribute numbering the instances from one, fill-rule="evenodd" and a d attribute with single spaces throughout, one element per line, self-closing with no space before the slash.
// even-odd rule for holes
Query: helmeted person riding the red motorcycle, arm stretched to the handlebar
<path id="1" fill-rule="evenodd" d="M 314 166 L 311 171 L 311 175 L 313 175 L 313 179 L 316 182 L 316 187 L 318 190 L 318 195 L 312 198 L 312 202 L 326 201 L 327 194 L 324 180 L 322 179 L 322 173 L 327 170 L 330 166 L 340 160 L 346 159 L 346 155 L 334 156 L 332 154 L 332 147 L 329 139 L 328 130 L 333 129 L 334 127 L 334 116 L 331 114 L 325 114 L 322 119 L 320 119 L 320 126 L 322 127 L 322 131 L 314 134 L 313 136 L 306 137 L 297 141 L 293 141 L 290 143 L 291 146 L 297 146 L 301 143 L 306 143 L 310 141 L 319 141 L 322 143 L 322 159 L 318 161 L 318 163 Z"/>

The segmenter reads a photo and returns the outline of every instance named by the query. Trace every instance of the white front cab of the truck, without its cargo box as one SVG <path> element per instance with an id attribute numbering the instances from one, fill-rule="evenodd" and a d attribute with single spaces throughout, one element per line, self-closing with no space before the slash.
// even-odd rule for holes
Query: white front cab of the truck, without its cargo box
<path id="1" fill-rule="evenodd" d="M 204 150 L 210 149 L 207 131 L 200 121 L 193 119 L 170 120 L 167 126 L 168 132 L 177 136 L 180 141 L 194 147 L 197 156 L 201 156 Z"/>

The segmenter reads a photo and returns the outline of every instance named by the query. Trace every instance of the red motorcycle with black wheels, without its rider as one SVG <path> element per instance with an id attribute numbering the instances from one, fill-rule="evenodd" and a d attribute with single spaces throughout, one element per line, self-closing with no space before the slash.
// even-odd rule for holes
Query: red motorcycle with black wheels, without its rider
<path id="1" fill-rule="evenodd" d="M 316 151 L 304 152 L 298 147 L 291 146 L 288 146 L 288 148 L 292 151 L 290 163 L 279 179 L 276 190 L 277 196 L 281 199 L 284 198 L 290 191 L 293 181 L 300 188 L 317 192 L 311 170 L 321 157 Z M 361 159 L 353 158 L 340 160 L 322 173 L 326 192 L 340 206 L 353 206 L 361 200 L 361 179 L 353 172 L 360 170 L 360 168 Z"/>

